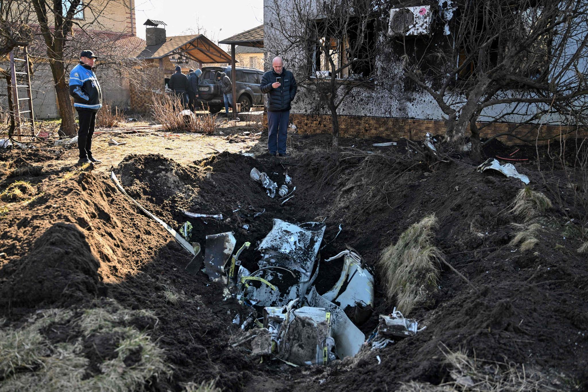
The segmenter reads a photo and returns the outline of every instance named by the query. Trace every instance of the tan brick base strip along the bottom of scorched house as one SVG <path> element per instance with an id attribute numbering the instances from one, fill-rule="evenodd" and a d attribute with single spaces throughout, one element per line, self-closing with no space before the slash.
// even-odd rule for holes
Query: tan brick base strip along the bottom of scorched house
<path id="1" fill-rule="evenodd" d="M 298 128 L 298 132 L 302 134 L 332 132 L 330 115 L 291 113 L 290 122 L 294 123 Z M 263 124 L 267 127 L 267 113 L 263 115 Z M 482 126 L 481 123 L 480 126 Z M 495 123 L 483 128 L 480 131 L 480 136 L 489 137 L 502 132 L 512 132 L 525 139 L 534 139 L 537 136 L 537 126 L 525 125 L 517 129 L 515 127 L 516 124 L 513 123 Z M 437 120 L 339 116 L 339 129 L 342 137 L 375 138 L 376 136 L 381 136 L 382 138 L 393 140 L 399 138 L 422 140 L 427 132 L 431 135 L 443 135 L 445 133 L 445 123 Z M 559 126 L 543 126 L 540 130 L 539 138 L 560 135 L 562 132 L 567 133 L 569 131 Z M 586 137 L 588 132 L 584 131 L 582 135 Z M 506 144 L 520 143 L 518 139 L 512 136 L 500 136 L 499 139 Z"/>

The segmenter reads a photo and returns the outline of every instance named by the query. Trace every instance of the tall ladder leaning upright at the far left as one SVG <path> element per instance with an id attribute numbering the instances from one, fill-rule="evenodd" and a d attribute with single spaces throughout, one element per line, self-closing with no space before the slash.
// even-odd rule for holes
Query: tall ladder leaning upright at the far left
<path id="1" fill-rule="evenodd" d="M 13 109 L 14 109 L 14 122 L 16 126 L 16 138 L 19 142 L 22 142 L 22 132 L 21 128 L 23 123 L 26 120 L 31 121 L 31 130 L 32 135 L 35 135 L 35 116 L 33 113 L 33 99 L 31 94 L 31 66 L 29 64 L 29 55 L 26 49 L 26 46 L 22 48 L 22 59 L 15 57 L 15 50 L 13 49 L 10 52 L 10 73 L 12 78 L 12 100 L 13 102 Z M 16 63 L 23 62 L 24 67 L 22 67 L 22 71 L 16 71 Z M 18 79 L 20 78 L 20 79 Z M 22 84 L 18 84 L 22 83 Z M 19 98 L 18 90 L 26 89 L 26 98 Z M 29 110 L 21 110 L 21 101 L 26 100 L 28 101 Z M 23 114 L 28 113 L 28 117 L 22 116 Z"/>

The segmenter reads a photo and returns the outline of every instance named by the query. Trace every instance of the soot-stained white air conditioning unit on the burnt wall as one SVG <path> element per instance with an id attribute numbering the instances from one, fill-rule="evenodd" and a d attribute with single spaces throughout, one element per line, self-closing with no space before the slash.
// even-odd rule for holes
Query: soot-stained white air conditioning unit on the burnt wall
<path id="1" fill-rule="evenodd" d="M 390 35 L 423 35 L 430 33 L 431 6 L 390 9 Z"/>

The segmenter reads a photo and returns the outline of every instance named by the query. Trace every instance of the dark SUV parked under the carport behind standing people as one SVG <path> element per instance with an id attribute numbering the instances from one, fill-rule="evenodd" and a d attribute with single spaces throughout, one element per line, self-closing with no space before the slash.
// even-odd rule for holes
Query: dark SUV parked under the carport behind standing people
<path id="1" fill-rule="evenodd" d="M 208 105 L 211 113 L 216 113 L 225 107 L 222 96 L 222 82 L 216 79 L 216 73 L 225 72 L 231 77 L 230 66 L 205 66 L 198 85 L 198 106 Z M 256 68 L 236 67 L 237 103 L 241 104 L 241 112 L 249 112 L 252 106 L 263 105 L 263 94 L 259 88 L 263 71 Z M 233 81 L 235 82 L 235 81 Z"/>

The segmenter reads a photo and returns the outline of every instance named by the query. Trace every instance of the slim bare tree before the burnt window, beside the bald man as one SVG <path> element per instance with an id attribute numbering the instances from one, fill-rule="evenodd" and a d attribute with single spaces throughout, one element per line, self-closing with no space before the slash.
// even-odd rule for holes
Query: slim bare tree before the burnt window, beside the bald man
<path id="1" fill-rule="evenodd" d="M 266 49 L 294 70 L 299 88 L 318 96 L 318 109 L 331 114 L 333 146 L 338 145 L 337 110 L 355 88 L 373 85 L 376 22 L 371 0 L 271 0 L 264 19 Z"/>

